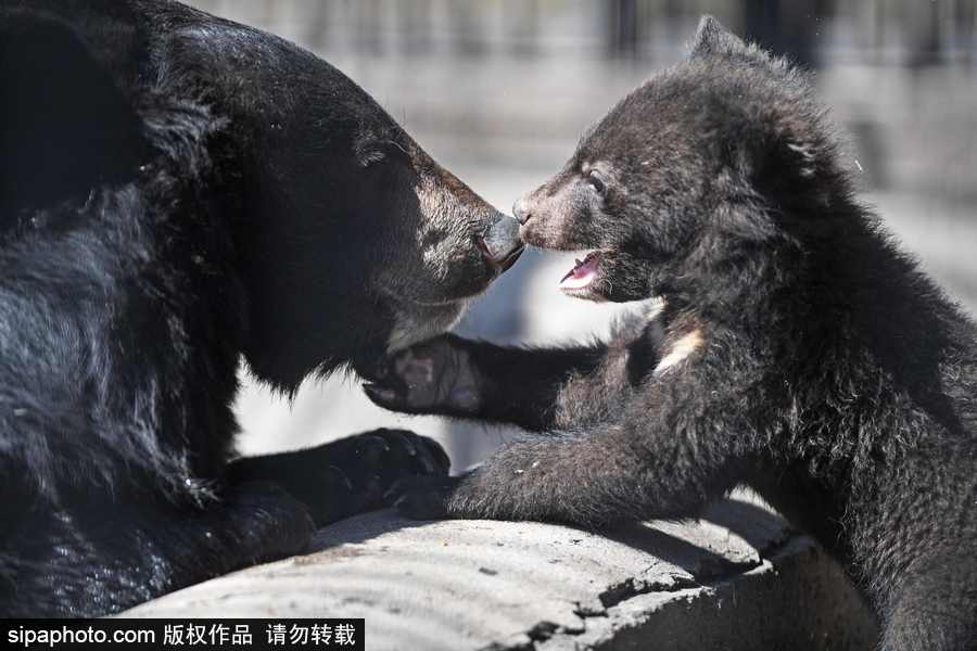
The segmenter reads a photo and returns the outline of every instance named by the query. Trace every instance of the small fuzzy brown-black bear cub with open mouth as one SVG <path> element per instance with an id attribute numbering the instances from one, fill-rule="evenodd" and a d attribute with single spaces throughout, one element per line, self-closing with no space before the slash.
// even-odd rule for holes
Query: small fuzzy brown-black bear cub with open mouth
<path id="1" fill-rule="evenodd" d="M 884 648 L 977 648 L 977 328 L 853 196 L 805 76 L 702 21 L 517 202 L 528 244 L 594 250 L 570 294 L 662 298 L 607 345 L 435 339 L 368 393 L 529 435 L 415 516 L 690 518 L 754 487 L 878 613 Z"/>

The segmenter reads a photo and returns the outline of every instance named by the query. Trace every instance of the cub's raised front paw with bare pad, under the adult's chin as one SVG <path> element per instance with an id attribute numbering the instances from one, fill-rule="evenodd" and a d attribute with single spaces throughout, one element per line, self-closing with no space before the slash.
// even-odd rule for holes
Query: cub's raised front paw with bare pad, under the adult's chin
<path id="1" fill-rule="evenodd" d="M 377 405 L 414 413 L 473 413 L 482 404 L 478 369 L 458 337 L 444 335 L 401 353 L 364 385 Z"/>

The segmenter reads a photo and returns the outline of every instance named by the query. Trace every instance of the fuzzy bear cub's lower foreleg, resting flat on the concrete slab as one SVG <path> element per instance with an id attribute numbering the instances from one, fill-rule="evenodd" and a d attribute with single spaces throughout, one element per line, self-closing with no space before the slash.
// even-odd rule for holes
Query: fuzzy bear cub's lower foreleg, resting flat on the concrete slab
<path id="1" fill-rule="evenodd" d="M 614 423 L 530 435 L 462 477 L 407 480 L 390 497 L 423 519 L 599 524 L 695 516 L 756 462 L 731 429 L 736 419 L 721 405 L 703 405 L 710 394 L 689 384 L 658 381 Z"/>

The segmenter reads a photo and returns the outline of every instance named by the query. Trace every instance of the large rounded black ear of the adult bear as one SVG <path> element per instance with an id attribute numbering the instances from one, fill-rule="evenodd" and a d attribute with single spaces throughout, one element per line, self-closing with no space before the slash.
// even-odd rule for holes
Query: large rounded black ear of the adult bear
<path id="1" fill-rule="evenodd" d="M 0 10 L 0 220 L 131 175 L 148 151 L 141 119 L 71 28 Z"/>

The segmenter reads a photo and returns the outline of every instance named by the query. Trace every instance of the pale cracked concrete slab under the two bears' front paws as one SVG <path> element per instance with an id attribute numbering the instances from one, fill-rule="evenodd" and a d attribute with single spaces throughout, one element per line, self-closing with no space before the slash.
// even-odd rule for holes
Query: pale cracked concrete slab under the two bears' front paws
<path id="1" fill-rule="evenodd" d="M 872 649 L 836 565 L 762 507 L 599 532 L 379 511 L 123 617 L 364 617 L 371 650 Z"/>

